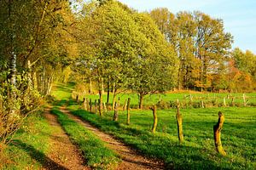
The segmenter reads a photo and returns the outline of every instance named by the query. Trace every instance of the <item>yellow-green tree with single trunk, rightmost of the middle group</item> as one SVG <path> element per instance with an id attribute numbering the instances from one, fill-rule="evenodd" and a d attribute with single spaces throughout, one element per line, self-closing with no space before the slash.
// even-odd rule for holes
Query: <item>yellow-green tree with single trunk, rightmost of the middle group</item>
<path id="1" fill-rule="evenodd" d="M 130 88 L 139 95 L 139 108 L 143 109 L 145 95 L 164 93 L 175 86 L 178 60 L 148 14 L 136 14 L 135 20 L 148 43 L 137 55 Z"/>

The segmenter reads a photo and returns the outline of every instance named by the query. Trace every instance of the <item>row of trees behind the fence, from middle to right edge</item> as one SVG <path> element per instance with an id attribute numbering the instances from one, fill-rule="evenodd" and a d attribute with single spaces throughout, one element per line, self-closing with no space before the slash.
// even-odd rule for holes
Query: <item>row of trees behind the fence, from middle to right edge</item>
<path id="1" fill-rule="evenodd" d="M 73 68 L 88 83 L 97 82 L 100 105 L 103 89 L 112 89 L 113 105 L 123 90 L 136 92 L 142 108 L 145 95 L 173 88 L 255 88 L 254 73 L 239 66 L 251 53 L 239 58 L 239 49 L 231 51 L 233 37 L 224 32 L 223 20 L 198 11 L 175 15 L 167 8 L 138 13 L 113 0 L 84 4 L 78 20 L 79 60 Z M 255 62 L 255 55 L 247 62 Z"/>

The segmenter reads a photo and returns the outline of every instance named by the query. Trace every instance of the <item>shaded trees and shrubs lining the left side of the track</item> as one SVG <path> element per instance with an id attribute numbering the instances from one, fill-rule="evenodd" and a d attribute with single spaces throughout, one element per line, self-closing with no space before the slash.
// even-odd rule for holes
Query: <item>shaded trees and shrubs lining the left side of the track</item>
<path id="1" fill-rule="evenodd" d="M 0 145 L 44 104 L 56 71 L 73 57 L 73 20 L 68 1 L 0 1 Z"/>

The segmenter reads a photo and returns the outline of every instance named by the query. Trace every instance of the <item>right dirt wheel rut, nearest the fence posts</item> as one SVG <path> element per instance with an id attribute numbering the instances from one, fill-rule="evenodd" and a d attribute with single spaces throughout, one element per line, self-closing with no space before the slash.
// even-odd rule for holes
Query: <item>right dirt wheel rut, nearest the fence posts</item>
<path id="1" fill-rule="evenodd" d="M 108 147 L 115 150 L 122 159 L 122 163 L 117 168 L 118 170 L 132 169 L 132 170 L 143 170 L 143 169 L 164 169 L 162 162 L 150 160 L 146 157 L 140 156 L 136 151 L 131 150 L 127 145 L 113 139 L 112 136 L 102 133 L 98 128 L 90 125 L 89 122 L 81 121 L 79 117 L 73 116 L 67 109 L 61 107 L 61 112 L 67 114 L 74 121 L 84 125 L 90 131 L 96 133 L 96 135 L 108 144 Z"/>

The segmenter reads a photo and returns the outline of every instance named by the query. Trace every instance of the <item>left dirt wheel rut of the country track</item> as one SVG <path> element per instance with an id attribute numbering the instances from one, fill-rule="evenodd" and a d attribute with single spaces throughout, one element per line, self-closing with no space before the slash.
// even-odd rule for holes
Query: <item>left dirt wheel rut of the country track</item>
<path id="1" fill-rule="evenodd" d="M 44 116 L 49 124 L 54 127 L 55 132 L 50 136 L 51 150 L 49 151 L 49 160 L 46 161 L 45 169 L 83 169 L 88 170 L 89 167 L 84 166 L 84 159 L 78 148 L 72 144 L 67 134 L 57 122 L 56 116 L 49 113 L 50 109 L 44 111 Z M 53 163 L 54 162 L 54 163 Z"/>

